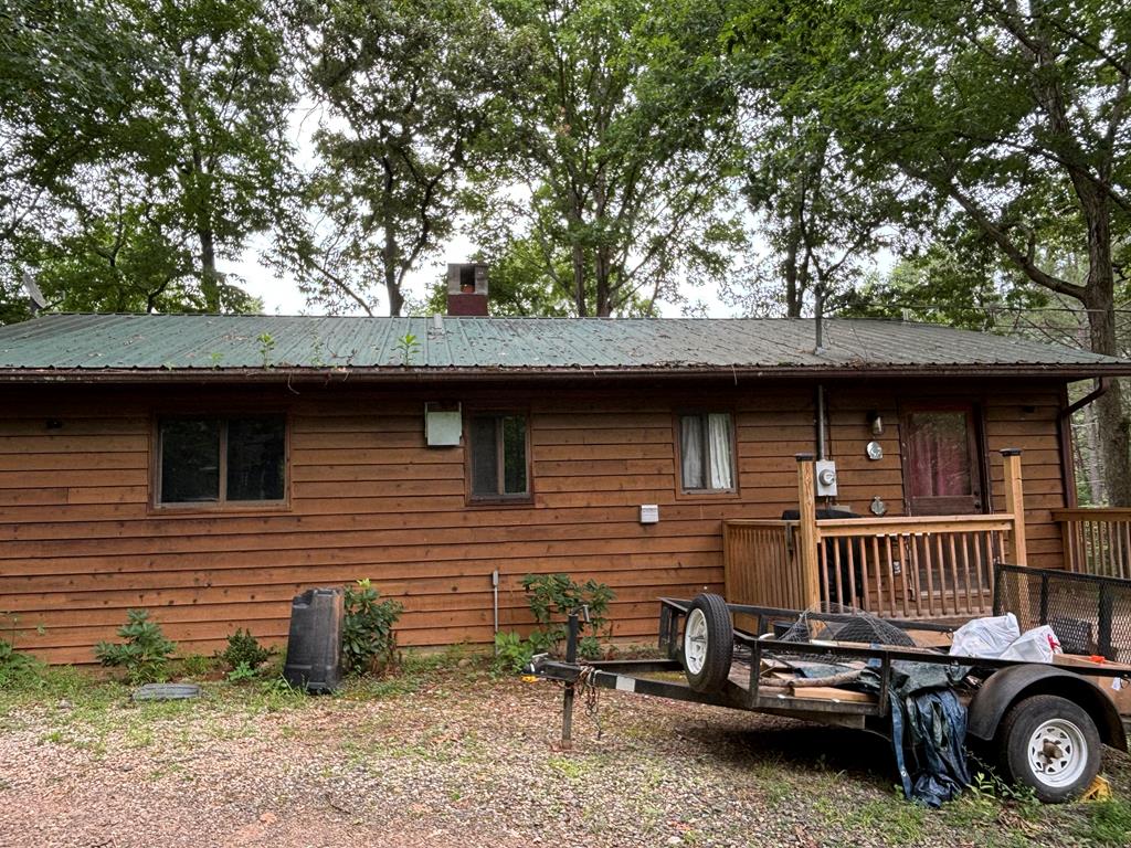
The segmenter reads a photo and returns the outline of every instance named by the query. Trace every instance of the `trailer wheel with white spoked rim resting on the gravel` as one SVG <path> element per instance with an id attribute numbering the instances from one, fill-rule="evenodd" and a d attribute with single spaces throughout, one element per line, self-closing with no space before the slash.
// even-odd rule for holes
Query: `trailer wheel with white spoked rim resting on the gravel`
<path id="1" fill-rule="evenodd" d="M 998 734 L 1001 762 L 1037 798 L 1059 804 L 1087 789 L 1099 772 L 1099 732 L 1079 706 L 1059 695 L 1016 704 Z"/>

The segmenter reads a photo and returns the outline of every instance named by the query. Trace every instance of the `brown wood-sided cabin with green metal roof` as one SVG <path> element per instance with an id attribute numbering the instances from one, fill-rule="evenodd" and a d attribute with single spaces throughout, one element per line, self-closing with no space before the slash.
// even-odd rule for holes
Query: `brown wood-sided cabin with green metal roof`
<path id="1" fill-rule="evenodd" d="M 280 641 L 296 592 L 371 578 L 405 606 L 402 644 L 484 643 L 493 576 L 510 630 L 523 576 L 568 572 L 615 590 L 614 638 L 646 640 L 658 596 L 723 590 L 725 548 L 758 560 L 759 591 L 785 585 L 798 453 L 835 462 L 818 507 L 982 521 L 969 566 L 1001 554 L 1000 451 L 1019 449 L 1027 563 L 1060 568 L 1067 386 L 1123 374 L 864 320 L 828 321 L 814 353 L 809 320 L 44 315 L 0 328 L 0 613 L 51 661 L 92 661 L 132 607 L 209 652 L 238 626 Z M 923 611 L 898 553 L 948 527 L 871 527 L 857 600 L 949 612 Z M 962 555 L 938 551 L 947 583 Z M 970 573 L 947 591 L 975 611 Z"/>

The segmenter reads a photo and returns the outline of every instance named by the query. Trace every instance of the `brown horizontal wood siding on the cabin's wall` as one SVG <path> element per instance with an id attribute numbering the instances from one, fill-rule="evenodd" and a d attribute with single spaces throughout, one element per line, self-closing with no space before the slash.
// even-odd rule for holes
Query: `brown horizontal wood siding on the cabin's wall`
<path id="1" fill-rule="evenodd" d="M 813 390 L 805 386 L 544 393 L 484 387 L 460 389 L 456 398 L 450 389 L 256 389 L 251 398 L 248 391 L 188 388 L 145 396 L 5 389 L 0 611 L 16 616 L 19 647 L 51 661 L 90 661 L 90 646 L 113 638 L 124 611 L 137 606 L 153 611 L 182 652 L 210 652 L 238 625 L 280 642 L 295 592 L 361 577 L 404 603 L 402 644 L 482 643 L 491 640 L 495 568 L 503 629 L 530 622 L 524 574 L 566 571 L 616 591 L 615 638 L 648 639 L 658 596 L 722 590 L 723 519 L 777 518 L 796 507 L 793 457 L 813 450 Z M 1050 507 L 1063 505 L 1059 470 L 1050 470 L 1057 461 L 1056 389 L 1043 389 L 1047 400 L 1017 391 L 1016 405 L 987 406 L 987 439 L 991 447 L 1004 439 L 1004 447 L 1016 433 L 1035 445 L 1035 460 L 1026 455 L 1027 492 L 1030 479 L 1048 492 L 1034 495 L 1030 550 L 1051 557 L 1059 555 L 1059 533 L 1051 521 L 1047 533 L 1039 525 Z M 847 386 L 830 391 L 841 501 L 860 511 L 875 494 L 890 514 L 903 511 L 898 393 Z M 528 409 L 534 502 L 467 505 L 463 449 L 424 445 L 428 399 Z M 1021 403 L 1037 404 L 1038 414 L 1013 421 Z M 290 508 L 150 510 L 154 410 L 241 406 L 291 416 Z M 735 412 L 735 496 L 677 493 L 673 410 L 681 408 Z M 887 426 L 880 462 L 863 458 L 865 413 L 873 408 Z M 62 427 L 46 429 L 49 418 Z M 1000 478 L 1000 461 L 995 468 Z M 641 503 L 659 504 L 658 525 L 639 523 Z"/>

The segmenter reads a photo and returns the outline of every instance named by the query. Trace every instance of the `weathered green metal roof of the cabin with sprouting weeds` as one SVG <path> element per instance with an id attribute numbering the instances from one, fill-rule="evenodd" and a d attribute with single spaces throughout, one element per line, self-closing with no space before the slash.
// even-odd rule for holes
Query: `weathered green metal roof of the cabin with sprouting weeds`
<path id="1" fill-rule="evenodd" d="M 405 363 L 406 336 L 416 346 Z M 0 327 L 0 378 L 327 372 L 1129 374 L 1131 362 L 938 325 L 805 319 L 52 314 Z"/>

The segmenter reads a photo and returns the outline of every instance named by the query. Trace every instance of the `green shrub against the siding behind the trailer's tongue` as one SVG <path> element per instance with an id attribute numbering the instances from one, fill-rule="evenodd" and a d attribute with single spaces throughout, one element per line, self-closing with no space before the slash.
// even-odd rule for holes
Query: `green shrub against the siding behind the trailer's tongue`
<path id="1" fill-rule="evenodd" d="M 605 613 L 615 597 L 606 583 L 586 580 L 578 583 L 569 574 L 527 574 L 523 578 L 527 603 L 538 629 L 530 633 L 534 654 L 560 654 L 566 641 L 566 616 L 573 609 L 589 607 L 589 623 L 580 621 L 578 654 L 587 659 L 601 656 L 601 640 L 611 626 Z"/>

